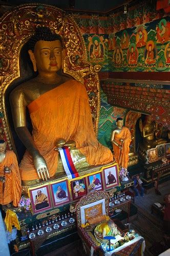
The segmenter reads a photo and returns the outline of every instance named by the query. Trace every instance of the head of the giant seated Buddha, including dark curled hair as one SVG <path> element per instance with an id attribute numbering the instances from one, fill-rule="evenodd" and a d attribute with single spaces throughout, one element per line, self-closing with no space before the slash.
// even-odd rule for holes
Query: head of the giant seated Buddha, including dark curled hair
<path id="1" fill-rule="evenodd" d="M 29 41 L 29 55 L 39 74 L 58 71 L 62 63 L 61 37 L 47 27 L 39 27 Z"/>

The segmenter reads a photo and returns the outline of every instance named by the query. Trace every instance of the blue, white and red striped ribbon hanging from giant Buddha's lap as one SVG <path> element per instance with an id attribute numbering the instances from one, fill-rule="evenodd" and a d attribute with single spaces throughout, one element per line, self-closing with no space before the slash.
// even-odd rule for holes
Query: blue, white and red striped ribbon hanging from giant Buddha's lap
<path id="1" fill-rule="evenodd" d="M 74 163 L 72 161 L 71 155 L 70 155 L 70 150 L 68 147 L 63 147 L 63 148 L 58 148 L 60 156 L 61 156 L 61 161 L 63 164 L 63 168 L 66 171 L 66 174 L 68 176 L 68 179 L 74 179 L 79 176 Z"/>

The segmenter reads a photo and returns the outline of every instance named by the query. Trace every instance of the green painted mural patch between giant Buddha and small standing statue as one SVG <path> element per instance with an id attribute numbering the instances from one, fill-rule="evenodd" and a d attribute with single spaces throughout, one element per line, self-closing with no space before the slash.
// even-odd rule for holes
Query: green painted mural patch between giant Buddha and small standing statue
<path id="1" fill-rule="evenodd" d="M 108 104 L 107 95 L 103 92 L 102 88 L 100 88 L 100 119 L 99 119 L 99 129 L 98 129 L 98 140 L 99 142 L 112 149 L 111 133 L 113 129 L 116 127 L 116 119 L 117 117 L 122 117 L 126 114 L 126 109 L 113 107 Z"/>

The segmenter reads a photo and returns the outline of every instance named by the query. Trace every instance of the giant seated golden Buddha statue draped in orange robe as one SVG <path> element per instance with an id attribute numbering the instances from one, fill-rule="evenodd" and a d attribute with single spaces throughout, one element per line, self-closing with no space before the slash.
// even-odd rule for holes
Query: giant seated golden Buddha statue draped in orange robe
<path id="1" fill-rule="evenodd" d="M 75 146 L 89 165 L 113 161 L 109 148 L 96 139 L 86 88 L 59 75 L 61 38 L 40 27 L 30 40 L 29 55 L 38 75 L 17 86 L 10 95 L 15 130 L 27 150 L 20 163 L 22 181 L 47 180 L 55 175 L 57 147 Z M 26 126 L 26 108 L 33 126 Z"/>

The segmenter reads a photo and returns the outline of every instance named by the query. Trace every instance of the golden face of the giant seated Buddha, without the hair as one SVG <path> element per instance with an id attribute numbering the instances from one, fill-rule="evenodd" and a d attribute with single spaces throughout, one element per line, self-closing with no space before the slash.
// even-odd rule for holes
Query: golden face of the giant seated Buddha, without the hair
<path id="1" fill-rule="evenodd" d="M 38 41 L 34 47 L 34 57 L 39 73 L 53 73 L 58 71 L 61 68 L 62 62 L 60 41 Z"/>

